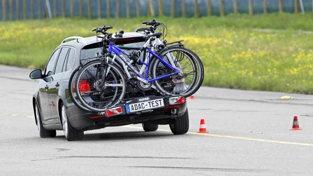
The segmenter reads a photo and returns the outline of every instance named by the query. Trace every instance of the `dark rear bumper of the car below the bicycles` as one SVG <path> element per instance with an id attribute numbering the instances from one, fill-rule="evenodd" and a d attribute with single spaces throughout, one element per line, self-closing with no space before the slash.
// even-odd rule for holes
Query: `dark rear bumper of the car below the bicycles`
<path id="1" fill-rule="evenodd" d="M 122 112 L 118 115 L 113 115 L 108 117 L 107 113 L 102 113 L 101 115 L 97 113 L 88 113 L 80 110 L 75 105 L 71 105 L 67 107 L 68 117 L 72 124 L 72 126 L 79 130 L 92 130 L 92 129 L 100 129 L 108 126 L 122 126 L 128 124 L 137 124 L 148 122 L 154 124 L 170 124 L 173 123 L 173 112 L 176 111 L 176 116 L 182 116 L 186 109 L 186 102 L 179 104 L 170 104 L 168 97 L 155 97 L 151 98 L 164 98 L 164 107 L 159 109 L 153 109 L 143 112 L 135 112 L 135 113 L 127 113 L 126 105 L 134 102 L 138 102 L 137 100 L 130 101 L 125 104 L 119 104 L 116 107 L 121 107 Z M 114 107 L 113 107 L 114 108 Z"/>

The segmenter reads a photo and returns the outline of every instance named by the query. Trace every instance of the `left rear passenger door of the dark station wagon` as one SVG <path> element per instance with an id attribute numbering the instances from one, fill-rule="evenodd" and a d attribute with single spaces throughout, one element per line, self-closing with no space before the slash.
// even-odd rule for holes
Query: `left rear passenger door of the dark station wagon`
<path id="1" fill-rule="evenodd" d="M 48 124 L 56 124 L 60 123 L 60 120 L 58 118 L 58 93 L 59 93 L 59 86 L 61 84 L 61 79 L 63 76 L 63 66 L 64 62 L 66 60 L 67 54 L 68 54 L 69 48 L 68 47 L 62 47 L 60 54 L 58 56 L 58 59 L 55 64 L 54 68 L 54 74 L 51 76 L 52 81 L 49 82 L 48 85 L 48 100 L 49 100 L 49 105 L 51 109 L 50 117 L 49 117 L 49 122 Z"/>

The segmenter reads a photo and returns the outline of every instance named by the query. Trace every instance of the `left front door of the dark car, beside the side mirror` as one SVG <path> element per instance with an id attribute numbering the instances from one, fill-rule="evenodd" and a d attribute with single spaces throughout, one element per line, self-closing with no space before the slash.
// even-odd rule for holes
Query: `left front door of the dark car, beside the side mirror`
<path id="1" fill-rule="evenodd" d="M 48 101 L 48 85 L 53 79 L 52 75 L 54 71 L 54 65 L 58 57 L 59 51 L 60 49 L 56 49 L 51 55 L 43 74 L 44 78 L 39 82 L 39 103 L 42 112 L 41 116 L 44 124 L 47 124 L 46 121 L 49 119 L 51 113 Z"/>

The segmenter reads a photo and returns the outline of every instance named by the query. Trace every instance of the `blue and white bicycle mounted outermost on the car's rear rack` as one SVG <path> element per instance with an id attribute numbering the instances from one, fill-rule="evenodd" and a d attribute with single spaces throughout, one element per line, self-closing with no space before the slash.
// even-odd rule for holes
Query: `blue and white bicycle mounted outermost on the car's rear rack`
<path id="1" fill-rule="evenodd" d="M 145 44 L 140 50 L 128 53 L 115 45 L 122 34 L 107 33 L 111 26 L 93 31 L 102 39 L 99 59 L 82 66 L 76 75 L 75 90 L 82 105 L 96 112 L 102 112 L 123 102 L 129 92 L 156 90 L 162 95 L 183 95 L 196 92 L 203 81 L 201 60 L 193 52 L 182 47 L 170 47 L 158 51 L 153 41 L 161 32 L 144 36 Z M 102 33 L 104 36 L 98 36 Z M 141 53 L 147 57 L 140 59 Z M 124 57 L 127 56 L 126 57 Z"/>

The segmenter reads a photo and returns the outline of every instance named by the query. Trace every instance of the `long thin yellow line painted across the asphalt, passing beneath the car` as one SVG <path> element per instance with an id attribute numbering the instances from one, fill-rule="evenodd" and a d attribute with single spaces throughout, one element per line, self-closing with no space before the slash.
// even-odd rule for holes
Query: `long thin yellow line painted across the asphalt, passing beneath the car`
<path id="1" fill-rule="evenodd" d="M 26 116 L 26 115 L 22 115 L 22 114 L 1 113 L 0 115 L 6 115 L 6 116 L 12 116 L 12 117 L 20 116 L 20 117 L 34 118 L 34 116 Z M 120 127 L 142 129 L 142 127 L 130 126 L 130 125 L 125 125 L 125 126 L 120 126 Z M 158 129 L 157 131 L 172 132 L 171 130 L 166 130 L 166 129 Z M 283 141 L 283 140 L 270 140 L 270 139 L 262 139 L 262 138 L 251 138 L 251 137 L 232 136 L 232 135 L 224 135 L 224 134 L 212 134 L 212 133 L 187 132 L 187 134 L 205 135 L 205 136 L 223 137 L 223 138 L 233 138 L 233 139 L 241 139 L 241 140 L 253 140 L 253 141 L 265 142 L 265 143 L 289 144 L 289 145 L 312 146 L 313 147 L 313 144 L 310 144 L 310 143 L 287 142 L 287 141 Z"/>

